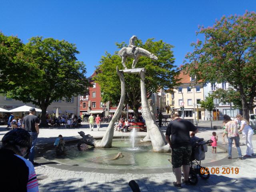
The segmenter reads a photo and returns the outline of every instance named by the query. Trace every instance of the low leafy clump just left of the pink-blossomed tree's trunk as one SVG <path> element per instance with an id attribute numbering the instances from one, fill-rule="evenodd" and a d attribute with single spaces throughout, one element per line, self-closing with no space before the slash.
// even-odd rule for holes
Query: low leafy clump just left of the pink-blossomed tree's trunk
<path id="1" fill-rule="evenodd" d="M 242 101 L 240 93 L 233 88 L 228 88 L 226 90 L 218 88 L 212 92 L 214 98 L 219 99 L 220 103 L 230 104 L 233 103 L 234 108 L 241 109 Z"/>

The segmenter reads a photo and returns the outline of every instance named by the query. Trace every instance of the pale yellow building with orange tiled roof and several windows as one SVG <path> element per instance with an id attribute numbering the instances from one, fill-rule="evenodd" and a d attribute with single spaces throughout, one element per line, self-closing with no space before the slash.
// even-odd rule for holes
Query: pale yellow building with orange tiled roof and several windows
<path id="1" fill-rule="evenodd" d="M 196 82 L 195 78 L 180 72 L 180 85 L 174 88 L 174 111 L 180 117 L 196 120 L 204 119 L 204 109 L 200 107 L 201 100 L 204 100 L 203 82 Z M 184 105 L 184 111 L 180 107 Z M 198 108 L 198 109 L 197 109 Z"/>

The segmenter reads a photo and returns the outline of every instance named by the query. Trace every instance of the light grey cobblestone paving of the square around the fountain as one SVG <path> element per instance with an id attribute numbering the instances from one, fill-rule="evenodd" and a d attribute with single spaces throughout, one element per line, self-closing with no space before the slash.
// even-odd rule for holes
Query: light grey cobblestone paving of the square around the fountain
<path id="1" fill-rule="evenodd" d="M 83 124 L 82 128 L 79 129 L 41 129 L 38 138 L 38 144 L 53 143 L 54 139 L 58 134 L 62 134 L 65 140 L 80 138 L 78 131 L 83 130 L 84 132 L 92 134 L 94 137 L 101 137 L 106 130 L 107 124 L 103 124 L 99 132 L 90 132 L 88 125 Z M 200 126 L 200 125 L 199 125 Z M 7 132 L 0 126 L 0 138 Z M 165 128 L 162 128 L 163 130 Z M 96 129 L 95 129 L 96 130 Z M 198 137 L 210 139 L 212 130 L 207 126 L 199 128 L 200 132 Z M 215 130 L 219 136 L 219 142 L 222 142 L 221 133 L 222 130 Z M 140 132 L 140 136 L 144 136 L 146 132 Z M 115 132 L 115 136 L 128 136 L 129 133 Z M 244 138 L 241 137 L 240 142 L 245 142 Z M 256 135 L 253 136 L 254 152 L 256 151 Z M 227 145 L 226 145 L 227 147 Z M 210 148 L 208 148 L 210 149 Z M 242 154 L 245 154 L 246 146 L 242 145 Z M 236 149 L 233 148 L 236 152 Z M 208 150 L 210 152 L 210 150 Z M 218 155 L 218 154 L 216 154 Z M 227 162 L 227 161 L 225 161 Z M 41 164 L 36 166 L 36 174 L 38 176 L 39 186 L 41 192 L 128 192 L 131 191 L 128 186 L 130 180 L 135 180 L 141 191 L 149 192 L 164 192 L 164 191 L 177 191 L 174 188 L 172 182 L 175 181 L 175 176 L 172 172 L 166 172 L 161 174 L 104 174 L 96 172 L 82 172 L 82 171 L 71 171 L 62 170 L 50 166 L 50 163 Z M 205 163 L 205 162 L 204 162 Z M 211 174 L 208 180 L 202 180 L 199 178 L 196 186 L 185 186 L 178 191 L 256 191 L 256 156 L 251 158 L 244 158 L 244 160 L 233 159 L 230 163 L 224 163 L 220 168 L 220 174 Z M 222 174 L 222 168 L 238 167 L 238 174 Z M 211 170 L 212 167 L 209 167 Z M 217 168 L 217 167 L 214 167 Z"/>

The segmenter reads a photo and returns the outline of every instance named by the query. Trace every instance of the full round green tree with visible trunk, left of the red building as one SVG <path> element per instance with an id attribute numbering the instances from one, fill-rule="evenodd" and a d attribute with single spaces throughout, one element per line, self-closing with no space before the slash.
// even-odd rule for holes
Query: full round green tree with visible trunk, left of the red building
<path id="1" fill-rule="evenodd" d="M 46 126 L 46 110 L 54 100 L 84 94 L 89 86 L 85 65 L 76 58 L 78 53 L 76 45 L 67 41 L 32 37 L 19 60 L 30 66 L 27 76 L 32 75 L 34 79 L 10 89 L 7 96 L 39 106 L 42 109 L 41 126 Z"/>

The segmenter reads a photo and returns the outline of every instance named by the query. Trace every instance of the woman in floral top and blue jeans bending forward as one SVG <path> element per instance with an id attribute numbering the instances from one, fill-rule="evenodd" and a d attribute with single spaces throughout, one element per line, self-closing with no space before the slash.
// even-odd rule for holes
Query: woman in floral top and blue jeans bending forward
<path id="1" fill-rule="evenodd" d="M 242 159 L 242 152 L 239 146 L 239 134 L 238 134 L 238 123 L 236 121 L 232 121 L 230 116 L 224 115 L 223 116 L 225 121 L 225 128 L 228 132 L 228 159 L 232 159 L 231 152 L 232 152 L 232 142 L 235 140 L 236 149 L 238 152 L 238 156 L 240 159 Z"/>

